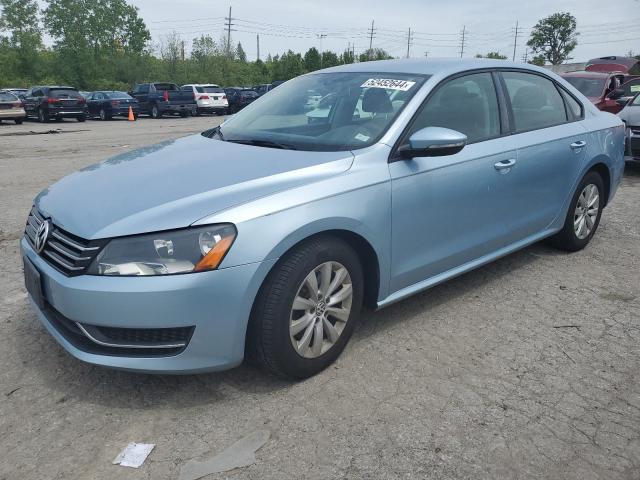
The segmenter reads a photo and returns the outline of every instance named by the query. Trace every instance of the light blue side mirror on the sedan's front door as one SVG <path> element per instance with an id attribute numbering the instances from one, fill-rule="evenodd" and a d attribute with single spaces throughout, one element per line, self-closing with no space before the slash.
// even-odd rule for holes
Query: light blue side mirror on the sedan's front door
<path id="1" fill-rule="evenodd" d="M 458 153 L 466 144 L 464 133 L 449 128 L 427 127 L 411 135 L 409 143 L 398 151 L 404 158 L 441 157 Z"/>

